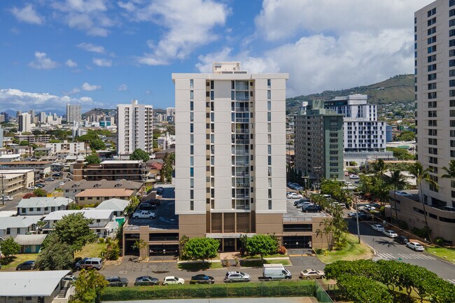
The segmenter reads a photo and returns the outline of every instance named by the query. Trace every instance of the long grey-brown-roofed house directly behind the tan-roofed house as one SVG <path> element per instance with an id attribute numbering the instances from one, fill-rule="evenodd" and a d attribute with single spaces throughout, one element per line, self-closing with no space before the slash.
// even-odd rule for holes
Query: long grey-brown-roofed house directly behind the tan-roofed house
<path id="1" fill-rule="evenodd" d="M 124 188 L 126 190 L 132 190 L 133 195 L 138 195 L 139 192 L 143 190 L 144 183 L 141 182 L 134 182 L 134 181 L 127 181 L 125 179 L 120 181 L 107 181 L 107 180 L 100 180 L 100 181 L 87 181 L 87 180 L 80 180 L 80 181 L 69 181 L 66 182 L 64 185 L 60 186 L 63 190 L 63 195 L 69 199 L 75 199 L 78 193 L 83 192 L 84 190 L 89 190 L 92 188 L 99 188 L 99 189 L 115 189 L 115 188 Z"/>

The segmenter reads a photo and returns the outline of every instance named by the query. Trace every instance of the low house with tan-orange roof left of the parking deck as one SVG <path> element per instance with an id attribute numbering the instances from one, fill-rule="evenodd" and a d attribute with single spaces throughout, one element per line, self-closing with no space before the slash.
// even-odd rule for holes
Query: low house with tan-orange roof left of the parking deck
<path id="1" fill-rule="evenodd" d="M 127 190 L 125 188 L 91 188 L 90 190 L 84 190 L 76 195 L 76 204 L 99 204 L 104 200 L 108 199 L 125 199 L 130 200 L 134 195 L 133 190 Z"/>

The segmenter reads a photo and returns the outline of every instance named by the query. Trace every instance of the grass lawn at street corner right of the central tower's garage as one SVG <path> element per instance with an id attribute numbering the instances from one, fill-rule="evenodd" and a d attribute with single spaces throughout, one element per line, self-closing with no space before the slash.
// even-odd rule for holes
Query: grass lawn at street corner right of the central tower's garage
<path id="1" fill-rule="evenodd" d="M 358 244 L 358 239 L 353 234 L 346 234 L 348 244 L 341 251 L 316 250 L 316 256 L 321 262 L 332 263 L 338 260 L 360 260 L 373 256 L 371 249 L 363 243 Z"/>

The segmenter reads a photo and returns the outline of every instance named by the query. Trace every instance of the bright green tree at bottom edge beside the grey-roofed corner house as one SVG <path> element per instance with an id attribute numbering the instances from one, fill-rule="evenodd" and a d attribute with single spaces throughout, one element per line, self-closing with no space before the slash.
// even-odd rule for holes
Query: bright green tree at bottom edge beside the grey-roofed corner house
<path id="1" fill-rule="evenodd" d="M 82 269 L 76 279 L 73 303 L 98 303 L 103 289 L 108 286 L 108 281 L 95 269 Z"/>

